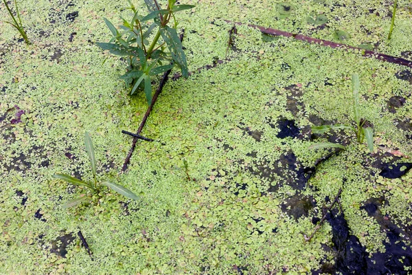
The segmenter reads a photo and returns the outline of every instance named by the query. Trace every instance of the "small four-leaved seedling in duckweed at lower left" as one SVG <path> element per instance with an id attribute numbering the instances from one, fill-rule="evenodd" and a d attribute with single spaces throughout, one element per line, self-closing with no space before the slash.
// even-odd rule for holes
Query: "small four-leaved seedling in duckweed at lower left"
<path id="1" fill-rule="evenodd" d="M 84 144 L 86 145 L 86 151 L 87 155 L 89 155 L 90 159 L 90 164 L 91 164 L 91 172 L 93 173 L 93 182 L 89 183 L 86 181 L 82 181 L 80 179 L 76 179 L 76 177 L 71 177 L 66 174 L 56 174 L 53 175 L 54 178 L 56 179 L 62 179 L 69 184 L 73 184 L 82 188 L 87 188 L 89 191 L 91 191 L 92 194 L 98 194 L 100 192 L 100 189 L 103 186 L 107 186 L 115 192 L 118 192 L 120 195 L 124 195 L 124 197 L 128 197 L 129 199 L 139 199 L 137 195 L 135 195 L 132 191 L 128 190 L 127 188 L 124 188 L 123 186 L 119 184 L 113 184 L 111 181 L 102 181 L 98 183 L 98 180 L 96 179 L 96 161 L 95 161 L 95 153 L 93 149 L 93 144 L 91 142 L 91 138 L 89 133 L 84 134 Z M 80 195 L 80 197 L 76 199 L 71 199 L 67 201 L 65 204 L 63 204 L 63 208 L 70 208 L 73 206 L 78 206 L 80 203 L 83 201 L 86 201 L 87 199 L 90 199 L 90 197 L 87 195 L 87 193 L 84 193 Z"/>

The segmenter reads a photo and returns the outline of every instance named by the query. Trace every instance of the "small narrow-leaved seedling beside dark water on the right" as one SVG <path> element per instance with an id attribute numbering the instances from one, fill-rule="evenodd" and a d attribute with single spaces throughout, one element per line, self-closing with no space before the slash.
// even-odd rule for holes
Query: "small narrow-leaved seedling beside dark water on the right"
<path id="1" fill-rule="evenodd" d="M 354 74 L 352 76 L 352 92 L 354 97 L 354 121 L 356 126 L 349 124 L 334 124 L 334 125 L 321 125 L 321 126 L 311 126 L 312 133 L 322 134 L 329 130 L 341 130 L 350 129 L 356 133 L 356 140 L 359 143 L 363 143 L 364 138 L 366 138 L 367 146 L 369 152 L 374 152 L 374 132 L 370 126 L 367 126 L 367 121 L 361 118 L 361 113 L 359 111 L 359 76 Z M 336 144 L 332 142 L 320 142 L 309 146 L 310 149 L 317 148 L 345 148 L 341 144 Z"/>

